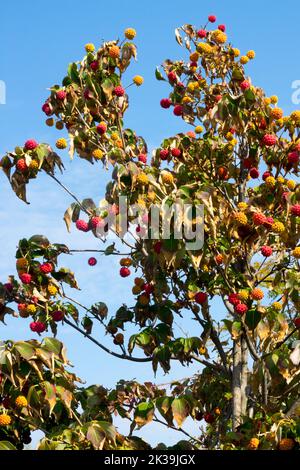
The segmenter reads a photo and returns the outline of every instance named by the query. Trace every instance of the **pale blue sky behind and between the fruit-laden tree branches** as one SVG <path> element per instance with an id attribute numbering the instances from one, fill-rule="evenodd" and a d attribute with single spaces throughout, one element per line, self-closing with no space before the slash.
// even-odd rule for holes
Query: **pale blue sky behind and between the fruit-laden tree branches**
<path id="1" fill-rule="evenodd" d="M 5 2 L 1 5 L 0 80 L 6 84 L 7 95 L 6 104 L 0 105 L 0 154 L 23 144 L 28 138 L 54 145 L 63 134 L 44 124 L 41 105 L 47 97 L 47 87 L 60 83 L 68 63 L 83 56 L 84 44 L 99 45 L 102 40 L 122 36 L 126 27 L 134 27 L 138 32 L 138 62 L 127 72 L 128 84 L 136 74 L 145 78 L 143 87 L 130 88 L 126 126 L 143 135 L 150 148 L 158 146 L 164 137 L 187 129 L 181 120 L 159 107 L 160 99 L 167 96 L 169 89 L 167 84 L 155 80 L 154 69 L 166 58 L 186 57 L 174 39 L 176 26 L 192 23 L 200 28 L 212 13 L 217 16 L 217 24 L 226 24 L 229 39 L 236 47 L 242 52 L 256 51 L 255 61 L 247 66 L 253 82 L 264 87 L 268 95 L 277 94 L 279 105 L 286 113 L 299 108 L 291 99 L 292 83 L 300 80 L 297 60 L 299 5 L 296 0 L 280 3 L 270 0 L 246 3 L 198 1 L 189 4 L 178 0 L 115 0 L 113 3 L 52 0 L 51 5 L 37 0 L 17 2 L 17 5 L 16 2 Z M 64 162 L 66 174 L 62 180 L 80 198 L 91 196 L 95 201 L 102 198 L 109 175 L 104 174 L 100 165 L 90 166 L 79 159 L 70 162 L 67 154 Z M 30 206 L 13 195 L 4 175 L 0 175 L 0 192 L 1 280 L 14 272 L 15 246 L 21 237 L 44 233 L 51 241 L 64 242 L 72 248 L 98 247 L 99 242 L 86 234 L 74 230 L 67 234 L 62 216 L 71 201 L 46 177 L 39 177 L 30 184 Z M 99 258 L 98 265 L 89 268 L 87 258 L 78 255 L 64 260 L 74 269 L 82 287 L 76 297 L 86 304 L 104 301 L 111 311 L 128 299 L 130 302 L 128 292 L 132 281 L 117 276 L 117 260 Z M 191 326 L 190 322 L 181 324 L 184 328 Z M 6 327 L 0 325 L 0 338 L 31 336 L 24 320 L 8 319 Z M 61 329 L 58 336 L 66 343 L 78 375 L 87 383 L 112 386 L 119 378 L 153 380 L 151 366 L 120 363 L 107 357 L 67 327 Z M 193 368 L 192 372 L 196 370 Z M 168 382 L 189 373 L 176 366 L 167 377 L 159 374 L 157 381 Z M 155 426 L 142 434 L 153 443 L 163 438 L 174 441 L 172 433 L 162 433 Z"/>

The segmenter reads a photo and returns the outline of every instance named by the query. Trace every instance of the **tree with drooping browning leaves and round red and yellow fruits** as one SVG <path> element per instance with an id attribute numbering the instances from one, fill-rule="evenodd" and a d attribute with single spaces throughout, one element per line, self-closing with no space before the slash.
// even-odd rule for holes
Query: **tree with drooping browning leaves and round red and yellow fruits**
<path id="1" fill-rule="evenodd" d="M 51 88 L 42 108 L 46 124 L 68 133 L 57 149 L 69 147 L 72 158 L 113 168 L 104 203 L 81 201 L 60 182 L 63 163 L 48 144 L 27 140 L 1 160 L 25 202 L 30 180 L 47 173 L 73 199 L 64 216 L 68 230 L 75 224 L 99 243 L 112 231 L 120 247 L 106 244 L 98 252 L 120 257 L 122 277 L 138 276 L 133 305 L 122 304 L 112 315 L 103 299 L 84 306 L 69 293 L 78 288 L 74 274 L 59 265 L 60 255 L 74 250 L 35 235 L 19 243 L 19 279 L 10 276 L 1 285 L 1 319 L 16 315 L 9 306 L 16 303 L 39 335 L 56 336 L 68 325 L 120 360 L 152 363 L 154 373 L 158 367 L 169 372 L 174 361 L 196 362 L 202 370 L 165 387 L 120 381 L 114 390 L 84 389 L 67 371 L 58 340 L 7 341 L 0 361 L 2 448 L 20 448 L 30 431 L 42 429 L 41 449 L 146 449 L 134 431 L 156 421 L 183 434 L 179 448 L 299 449 L 300 190 L 292 178 L 298 175 L 300 111 L 283 116 L 277 97 L 252 85 L 245 66 L 254 51 L 240 57 L 224 25 L 209 28 L 215 21 L 210 16 L 200 30 L 176 29 L 189 58 L 166 60 L 156 70 L 171 87 L 161 106 L 193 130 L 166 138 L 151 159 L 145 140 L 123 122 L 129 104 L 123 75 L 136 58 L 134 29 L 98 50 L 87 44 L 83 60 L 70 64 L 62 85 Z M 132 80 L 142 83 L 141 76 Z M 120 197 L 127 198 L 128 213 Z M 163 212 L 175 203 L 192 206 L 185 228 L 202 223 L 201 249 L 190 247 L 186 232 L 175 236 L 172 213 L 168 238 L 161 230 L 148 236 L 150 209 Z M 200 204 L 202 218 L 195 212 Z M 212 312 L 216 298 L 222 318 Z M 180 336 L 174 320 L 184 324 L 188 317 L 195 328 Z M 116 349 L 93 336 L 95 323 Z M 136 328 L 130 337 L 128 326 Z M 116 431 L 113 413 L 130 420 L 129 436 Z M 203 420 L 197 436 L 182 427 L 187 417 L 199 425 Z"/>

